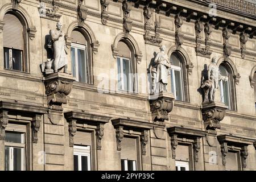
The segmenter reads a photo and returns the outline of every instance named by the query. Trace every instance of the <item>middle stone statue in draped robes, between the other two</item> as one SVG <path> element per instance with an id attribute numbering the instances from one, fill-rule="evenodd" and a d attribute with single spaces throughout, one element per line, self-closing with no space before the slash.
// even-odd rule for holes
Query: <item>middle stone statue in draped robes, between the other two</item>
<path id="1" fill-rule="evenodd" d="M 155 56 L 155 66 L 151 70 L 153 93 L 167 92 L 166 85 L 168 84 L 167 78 L 170 75 L 171 63 L 164 53 L 165 49 L 165 46 L 160 47 L 160 52 Z"/>

